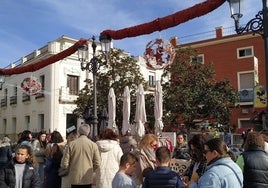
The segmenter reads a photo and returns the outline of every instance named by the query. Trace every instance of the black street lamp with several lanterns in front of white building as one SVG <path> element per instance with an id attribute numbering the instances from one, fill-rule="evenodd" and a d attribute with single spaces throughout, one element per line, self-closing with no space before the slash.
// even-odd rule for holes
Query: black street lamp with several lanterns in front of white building
<path id="1" fill-rule="evenodd" d="M 93 136 L 94 138 L 98 135 L 98 116 L 97 116 L 97 78 L 96 74 L 101 65 L 106 62 L 102 62 L 96 57 L 96 48 L 97 44 L 95 43 L 95 36 L 92 38 L 92 49 L 93 57 L 88 59 L 88 46 L 82 45 L 78 47 L 78 60 L 81 62 L 81 70 L 88 70 L 92 72 L 93 75 Z M 105 53 L 106 61 L 108 59 L 108 53 L 111 46 L 111 37 L 110 36 L 100 36 L 102 51 Z"/>

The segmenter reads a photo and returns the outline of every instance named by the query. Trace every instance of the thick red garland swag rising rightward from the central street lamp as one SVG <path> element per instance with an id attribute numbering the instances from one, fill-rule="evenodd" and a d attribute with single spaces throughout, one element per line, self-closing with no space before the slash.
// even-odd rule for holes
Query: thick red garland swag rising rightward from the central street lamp
<path id="1" fill-rule="evenodd" d="M 150 34 L 155 31 L 161 31 L 170 27 L 179 25 L 193 18 L 203 16 L 221 6 L 226 0 L 207 0 L 194 5 L 188 9 L 176 12 L 163 18 L 157 18 L 154 21 L 144 24 L 128 27 L 121 30 L 105 30 L 101 35 L 109 35 L 112 39 L 118 40 L 127 37 L 136 37 L 139 35 Z"/>

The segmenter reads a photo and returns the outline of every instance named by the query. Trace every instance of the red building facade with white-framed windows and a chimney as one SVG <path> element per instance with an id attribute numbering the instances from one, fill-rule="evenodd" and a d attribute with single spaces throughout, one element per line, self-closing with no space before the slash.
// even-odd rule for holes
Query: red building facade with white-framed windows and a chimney
<path id="1" fill-rule="evenodd" d="M 240 101 L 237 108 L 232 109 L 230 126 L 238 131 L 249 127 L 261 130 L 261 122 L 254 120 L 264 109 L 254 108 L 253 89 L 257 85 L 266 85 L 262 36 L 252 33 L 223 36 L 222 27 L 216 28 L 215 36 L 180 46 L 196 49 L 197 56 L 191 58 L 203 64 L 213 63 L 216 79 L 229 79 L 239 92 Z"/>

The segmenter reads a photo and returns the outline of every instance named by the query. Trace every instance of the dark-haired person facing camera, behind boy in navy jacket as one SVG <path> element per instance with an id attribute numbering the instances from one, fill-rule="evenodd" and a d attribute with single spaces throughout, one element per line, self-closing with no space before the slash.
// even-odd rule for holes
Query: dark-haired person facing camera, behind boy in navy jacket
<path id="1" fill-rule="evenodd" d="M 177 134 L 176 147 L 174 148 L 172 158 L 185 160 L 191 159 L 190 155 L 187 153 L 187 143 L 182 132 Z"/>

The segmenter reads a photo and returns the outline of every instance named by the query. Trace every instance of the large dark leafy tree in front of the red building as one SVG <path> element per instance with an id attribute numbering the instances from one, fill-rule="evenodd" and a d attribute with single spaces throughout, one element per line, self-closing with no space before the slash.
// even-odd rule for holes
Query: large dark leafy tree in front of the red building
<path id="1" fill-rule="evenodd" d="M 173 64 L 162 75 L 169 78 L 163 85 L 163 121 L 171 125 L 180 119 L 188 129 L 197 119 L 228 124 L 237 91 L 227 79 L 215 80 L 212 63 L 190 61 L 191 56 L 196 56 L 194 50 L 178 48 Z"/>

